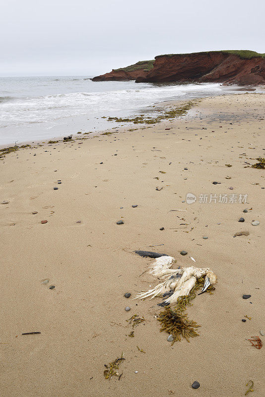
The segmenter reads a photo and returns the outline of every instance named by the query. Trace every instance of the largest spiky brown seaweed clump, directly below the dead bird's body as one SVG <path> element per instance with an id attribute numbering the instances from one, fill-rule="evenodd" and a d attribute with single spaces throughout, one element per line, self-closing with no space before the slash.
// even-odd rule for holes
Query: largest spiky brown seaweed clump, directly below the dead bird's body
<path id="1" fill-rule="evenodd" d="M 161 323 L 162 327 L 160 332 L 166 331 L 173 336 L 173 345 L 176 340 L 181 340 L 181 337 L 185 338 L 190 342 L 190 337 L 194 338 L 199 333 L 195 331 L 200 327 L 195 321 L 189 320 L 188 315 L 182 311 L 171 309 L 167 306 L 165 310 L 160 312 L 157 320 Z"/>

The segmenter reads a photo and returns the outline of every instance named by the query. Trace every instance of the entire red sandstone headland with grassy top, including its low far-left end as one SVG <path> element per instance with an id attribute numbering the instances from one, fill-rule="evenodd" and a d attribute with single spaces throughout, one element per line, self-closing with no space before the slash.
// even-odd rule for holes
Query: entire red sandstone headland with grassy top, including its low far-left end
<path id="1" fill-rule="evenodd" d="M 235 54 L 238 53 L 238 54 Z M 251 53 L 252 58 L 246 53 Z M 256 56 L 257 55 L 257 56 Z M 196 81 L 224 84 L 265 84 L 265 58 L 251 51 L 209 51 L 160 55 L 92 78 L 92 81 Z"/>

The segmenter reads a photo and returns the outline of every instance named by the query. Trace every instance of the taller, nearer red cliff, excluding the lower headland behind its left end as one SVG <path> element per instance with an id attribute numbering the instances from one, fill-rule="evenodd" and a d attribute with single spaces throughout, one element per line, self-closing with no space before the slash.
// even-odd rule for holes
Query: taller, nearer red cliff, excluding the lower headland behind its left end
<path id="1" fill-rule="evenodd" d="M 136 82 L 196 81 L 224 84 L 265 84 L 265 59 L 241 59 L 234 54 L 208 52 L 155 57 L 154 67 Z"/>

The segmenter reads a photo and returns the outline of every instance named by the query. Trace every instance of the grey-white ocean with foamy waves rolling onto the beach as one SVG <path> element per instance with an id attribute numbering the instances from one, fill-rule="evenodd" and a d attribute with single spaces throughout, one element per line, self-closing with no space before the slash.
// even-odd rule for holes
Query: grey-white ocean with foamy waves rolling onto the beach
<path id="1" fill-rule="evenodd" d="M 117 124 L 102 117 L 151 113 L 158 102 L 235 92 L 234 87 L 217 83 L 93 82 L 86 78 L 1 77 L 0 145 L 112 129 Z"/>

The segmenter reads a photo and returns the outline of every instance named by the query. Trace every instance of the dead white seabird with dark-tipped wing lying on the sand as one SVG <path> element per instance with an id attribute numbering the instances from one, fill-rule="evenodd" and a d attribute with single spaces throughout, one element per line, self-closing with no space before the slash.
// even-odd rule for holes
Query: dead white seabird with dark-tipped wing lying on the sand
<path id="1" fill-rule="evenodd" d="M 134 299 L 147 297 L 153 299 L 155 296 L 163 296 L 167 299 L 159 305 L 166 306 L 176 303 L 179 296 L 189 295 L 196 281 L 201 277 L 204 277 L 204 284 L 200 294 L 217 282 L 216 275 L 208 267 L 189 266 L 180 268 L 179 266 L 178 269 L 171 269 L 170 267 L 175 263 L 173 257 L 148 251 L 135 251 L 135 253 L 143 257 L 155 258 L 155 262 L 149 268 L 149 273 L 164 279 L 164 281 L 154 288 L 138 294 Z"/>

